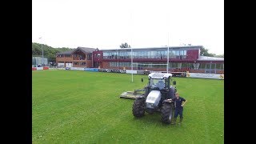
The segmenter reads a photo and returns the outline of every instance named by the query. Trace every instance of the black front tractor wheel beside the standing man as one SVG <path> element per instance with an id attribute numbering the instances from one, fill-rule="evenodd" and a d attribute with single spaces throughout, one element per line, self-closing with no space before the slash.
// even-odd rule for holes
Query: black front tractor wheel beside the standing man
<path id="1" fill-rule="evenodd" d="M 164 102 L 162 104 L 162 122 L 170 124 L 174 116 L 174 103 Z"/>

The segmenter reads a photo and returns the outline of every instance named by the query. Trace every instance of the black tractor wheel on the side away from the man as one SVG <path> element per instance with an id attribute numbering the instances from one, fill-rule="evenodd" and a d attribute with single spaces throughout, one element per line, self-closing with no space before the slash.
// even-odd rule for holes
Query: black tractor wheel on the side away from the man
<path id="1" fill-rule="evenodd" d="M 145 98 L 136 98 L 133 105 L 134 117 L 142 117 L 145 114 L 146 100 Z"/>

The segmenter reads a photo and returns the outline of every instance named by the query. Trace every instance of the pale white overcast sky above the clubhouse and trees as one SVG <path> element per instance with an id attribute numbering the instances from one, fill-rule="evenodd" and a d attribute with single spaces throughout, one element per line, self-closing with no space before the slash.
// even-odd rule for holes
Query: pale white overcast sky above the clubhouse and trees
<path id="1" fill-rule="evenodd" d="M 190 43 L 224 54 L 224 1 L 33 0 L 32 42 L 99 49 Z"/>

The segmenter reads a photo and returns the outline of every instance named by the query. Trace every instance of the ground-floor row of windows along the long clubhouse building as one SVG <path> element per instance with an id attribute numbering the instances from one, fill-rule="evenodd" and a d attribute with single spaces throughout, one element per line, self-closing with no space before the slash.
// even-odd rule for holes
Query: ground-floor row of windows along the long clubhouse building
<path id="1" fill-rule="evenodd" d="M 169 68 L 190 68 L 194 69 L 197 67 L 198 69 L 218 69 L 224 70 L 224 63 L 189 63 L 189 62 L 170 62 Z M 111 67 L 131 67 L 131 62 L 110 62 Z M 137 63 L 134 62 L 134 67 L 144 67 L 144 68 L 166 68 L 166 62 L 143 62 Z"/>

